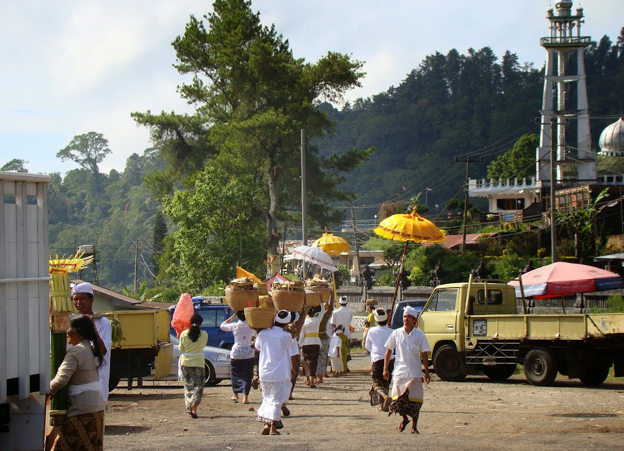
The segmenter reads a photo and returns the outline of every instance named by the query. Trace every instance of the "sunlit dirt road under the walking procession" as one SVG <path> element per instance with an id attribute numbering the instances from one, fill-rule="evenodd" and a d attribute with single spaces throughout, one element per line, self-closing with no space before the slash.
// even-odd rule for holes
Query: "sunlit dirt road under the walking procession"
<path id="1" fill-rule="evenodd" d="M 118 388 L 106 411 L 106 450 L 622 450 L 624 381 L 588 388 L 565 377 L 536 387 L 523 375 L 508 382 L 485 376 L 443 382 L 435 375 L 425 388 L 419 435 L 399 434 L 399 416 L 370 406 L 370 359 L 355 355 L 347 377 L 328 378 L 317 389 L 302 377 L 283 418 L 282 436 L 261 436 L 256 411 L 235 404 L 229 381 L 204 391 L 193 420 L 184 412 L 181 382 L 146 382 L 142 389 Z M 121 383 L 123 385 L 124 382 Z"/>

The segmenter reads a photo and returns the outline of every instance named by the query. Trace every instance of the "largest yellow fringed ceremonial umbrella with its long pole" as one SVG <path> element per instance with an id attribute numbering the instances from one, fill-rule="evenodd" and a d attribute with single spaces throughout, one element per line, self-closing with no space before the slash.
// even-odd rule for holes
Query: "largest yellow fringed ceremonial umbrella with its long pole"
<path id="1" fill-rule="evenodd" d="M 397 292 L 399 291 L 399 282 L 403 275 L 403 267 L 407 248 L 410 241 L 415 243 L 442 243 L 447 237 L 444 232 L 437 228 L 434 223 L 428 219 L 424 219 L 416 212 L 416 208 L 411 214 L 393 214 L 379 223 L 374 232 L 380 237 L 392 239 L 394 241 L 404 241 L 405 249 L 401 266 L 399 268 L 399 277 L 397 278 L 397 286 L 395 287 L 395 295 L 392 296 L 392 307 L 390 307 L 390 315 L 395 309 L 395 301 L 397 300 Z M 388 318 L 390 321 L 390 318 Z"/>

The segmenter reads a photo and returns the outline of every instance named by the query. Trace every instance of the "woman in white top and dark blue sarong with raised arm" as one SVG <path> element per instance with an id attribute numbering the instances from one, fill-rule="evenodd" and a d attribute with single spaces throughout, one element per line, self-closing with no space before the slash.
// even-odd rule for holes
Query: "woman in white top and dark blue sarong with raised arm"
<path id="1" fill-rule="evenodd" d="M 232 323 L 234 318 L 239 321 Z M 236 312 L 220 325 L 221 330 L 234 334 L 234 346 L 229 353 L 230 380 L 232 380 L 232 401 L 239 400 L 239 393 L 243 393 L 243 404 L 249 404 L 249 392 L 254 377 L 254 348 L 251 346 L 252 337 L 256 331 L 251 329 L 245 321 L 245 312 Z"/>

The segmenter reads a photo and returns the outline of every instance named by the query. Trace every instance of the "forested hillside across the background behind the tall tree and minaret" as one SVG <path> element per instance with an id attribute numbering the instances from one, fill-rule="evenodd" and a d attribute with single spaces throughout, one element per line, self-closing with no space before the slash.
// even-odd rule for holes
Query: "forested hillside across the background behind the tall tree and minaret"
<path id="1" fill-rule="evenodd" d="M 624 29 L 616 44 L 605 36 L 589 46 L 586 68 L 592 140 L 597 147 L 600 131 L 615 120 L 614 114 L 621 114 L 624 109 Z M 471 176 L 484 177 L 488 162 L 512 148 L 522 135 L 537 133 L 535 118 L 539 117 L 541 108 L 542 74 L 541 68 L 519 62 L 510 51 L 500 59 L 488 47 L 478 51 L 469 49 L 466 54 L 455 49 L 446 54 L 435 52 L 397 87 L 390 87 L 386 92 L 358 99 L 343 110 L 322 103 L 320 110 L 335 121 L 335 127 L 333 135 L 316 139 L 319 158 L 374 146 L 370 158 L 354 171 L 345 173 L 346 181 L 341 185 L 356 194 L 355 205 L 379 205 L 430 188 L 433 191 L 428 192 L 428 205 L 442 206 L 458 194 L 464 183 L 465 164 L 454 163 L 456 155 L 483 156 L 483 163 L 472 166 Z M 232 152 L 235 153 L 234 148 Z M 201 169 L 209 160 L 205 156 L 204 160 L 195 162 L 194 170 Z M 113 170 L 103 174 L 87 165 L 64 175 L 53 174 L 49 191 L 51 253 L 69 254 L 80 244 L 96 245 L 100 252 L 99 282 L 104 287 L 132 287 L 135 255 L 139 282 L 148 280 L 151 284 L 160 271 L 159 283 L 171 284 L 175 271 L 166 270 L 175 262 L 173 241 L 163 237 L 177 226 L 171 218 L 163 221 L 163 216 L 157 214 L 165 205 L 162 195 L 150 189 L 155 186 L 155 174 L 166 173 L 167 164 L 171 162 L 166 162 L 162 151 L 137 149 L 121 173 Z M 222 169 L 227 168 L 225 160 L 221 164 Z M 318 160 L 315 164 L 318 169 L 326 162 Z M 17 167 L 12 170 L 19 170 L 19 164 Z M 151 180 L 150 187 L 144 181 L 146 177 Z M 196 182 L 201 180 L 201 176 L 194 176 L 186 185 L 178 180 L 177 186 L 197 191 Z M 334 182 L 340 180 L 333 178 Z M 282 182 L 285 185 L 281 189 L 293 194 L 288 208 L 295 211 L 298 207 L 298 194 L 295 194 L 300 190 L 296 171 Z M 315 205 L 320 208 L 324 205 L 322 185 L 314 184 L 314 180 L 312 183 L 319 199 Z M 346 205 L 349 197 L 337 193 L 333 191 L 334 198 L 342 196 Z M 338 203 L 340 200 L 333 205 Z M 169 203 L 165 212 L 177 215 L 177 221 L 195 220 L 191 216 L 181 219 L 183 207 Z M 378 207 L 361 210 L 361 217 L 372 218 L 378 212 Z M 296 219 L 296 214 L 293 215 Z M 241 249 L 229 252 L 229 258 L 236 261 L 237 254 L 246 252 L 250 266 L 260 267 L 258 256 L 266 255 L 266 248 L 245 249 L 247 244 L 239 238 L 245 234 L 241 221 L 250 217 L 243 214 L 237 218 L 239 229 L 229 239 L 235 243 L 232 246 Z M 276 226 L 281 235 L 284 224 Z M 259 230 L 254 226 L 252 241 L 253 246 L 262 247 L 261 234 L 266 232 Z M 290 230 L 288 235 L 292 237 L 295 233 Z M 166 257 L 159 261 L 161 255 Z M 226 266 L 232 266 L 230 260 Z M 159 263 L 162 263 L 160 267 Z M 92 275 L 85 274 L 85 278 L 89 280 Z"/>

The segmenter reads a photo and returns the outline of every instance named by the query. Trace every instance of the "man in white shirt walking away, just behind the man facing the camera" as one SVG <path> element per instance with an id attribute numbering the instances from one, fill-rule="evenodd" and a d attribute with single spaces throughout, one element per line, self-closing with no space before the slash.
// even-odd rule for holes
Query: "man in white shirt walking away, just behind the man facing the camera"
<path id="1" fill-rule="evenodd" d="M 392 329 L 388 327 L 388 314 L 385 309 L 375 309 L 372 314 L 375 316 L 376 327 L 371 327 L 366 335 L 364 347 L 370 351 L 370 375 L 373 380 L 370 389 L 370 405 L 379 405 L 380 411 L 388 411 L 392 398 L 388 396 L 390 390 L 390 380 L 383 377 L 383 358 L 385 357 L 385 343 L 392 334 Z M 388 373 L 392 373 L 395 367 L 395 358 L 390 357 Z"/>

